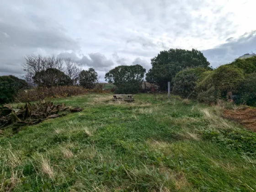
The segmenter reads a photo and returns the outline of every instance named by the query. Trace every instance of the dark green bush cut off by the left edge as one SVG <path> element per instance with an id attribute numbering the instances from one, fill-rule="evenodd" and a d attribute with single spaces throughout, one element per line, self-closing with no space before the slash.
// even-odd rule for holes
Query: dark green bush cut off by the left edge
<path id="1" fill-rule="evenodd" d="M 0 76 L 0 104 L 14 100 L 21 89 L 27 88 L 27 82 L 13 75 Z"/>

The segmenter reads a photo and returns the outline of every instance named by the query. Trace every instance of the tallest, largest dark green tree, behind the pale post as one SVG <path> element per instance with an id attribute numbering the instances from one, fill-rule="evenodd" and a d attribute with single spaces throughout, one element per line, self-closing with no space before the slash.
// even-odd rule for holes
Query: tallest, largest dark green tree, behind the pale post
<path id="1" fill-rule="evenodd" d="M 186 68 L 202 67 L 211 69 L 210 63 L 203 56 L 203 53 L 196 49 L 169 49 L 151 59 L 152 69 L 146 74 L 146 80 L 156 83 L 161 90 L 166 90 L 167 82 L 173 81 L 175 75 Z"/>

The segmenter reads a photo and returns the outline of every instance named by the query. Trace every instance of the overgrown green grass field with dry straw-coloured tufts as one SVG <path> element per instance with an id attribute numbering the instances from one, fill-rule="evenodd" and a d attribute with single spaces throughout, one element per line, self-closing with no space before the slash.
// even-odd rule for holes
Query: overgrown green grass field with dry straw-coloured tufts
<path id="1" fill-rule="evenodd" d="M 223 119 L 218 107 L 161 94 L 134 98 L 54 99 L 85 110 L 0 137 L 0 191 L 256 190 L 255 146 L 240 147 L 255 133 Z M 245 139 L 232 148 L 233 131 Z"/>

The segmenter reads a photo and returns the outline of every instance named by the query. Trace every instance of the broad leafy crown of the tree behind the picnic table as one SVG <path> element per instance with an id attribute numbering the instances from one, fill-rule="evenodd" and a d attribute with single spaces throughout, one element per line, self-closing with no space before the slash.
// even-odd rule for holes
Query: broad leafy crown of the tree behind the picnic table
<path id="1" fill-rule="evenodd" d="M 108 83 L 116 86 L 125 83 L 141 83 L 144 79 L 146 69 L 141 65 L 120 65 L 106 73 L 105 79 Z"/>

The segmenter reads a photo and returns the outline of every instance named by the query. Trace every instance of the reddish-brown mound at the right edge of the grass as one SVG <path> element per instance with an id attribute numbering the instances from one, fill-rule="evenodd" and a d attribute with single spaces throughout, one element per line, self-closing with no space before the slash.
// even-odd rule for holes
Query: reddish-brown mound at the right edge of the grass
<path id="1" fill-rule="evenodd" d="M 256 132 L 256 109 L 254 108 L 225 110 L 224 117 L 237 121 L 246 129 Z"/>

